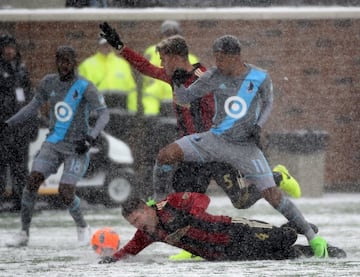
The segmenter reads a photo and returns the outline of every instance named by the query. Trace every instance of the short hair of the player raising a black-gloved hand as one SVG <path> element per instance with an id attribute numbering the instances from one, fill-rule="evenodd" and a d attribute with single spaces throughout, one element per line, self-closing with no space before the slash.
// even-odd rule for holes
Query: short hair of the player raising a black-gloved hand
<path id="1" fill-rule="evenodd" d="M 189 48 L 184 37 L 180 35 L 171 36 L 163 39 L 156 45 L 156 51 L 165 55 L 177 55 L 187 57 Z"/>

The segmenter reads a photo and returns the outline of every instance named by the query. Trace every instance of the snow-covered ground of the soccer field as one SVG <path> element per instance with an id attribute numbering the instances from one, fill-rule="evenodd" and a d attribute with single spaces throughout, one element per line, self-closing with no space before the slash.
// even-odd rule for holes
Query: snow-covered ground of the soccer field
<path id="1" fill-rule="evenodd" d="M 0 213 L 0 276 L 360 276 L 360 194 L 325 194 L 294 200 L 306 218 L 318 225 L 330 244 L 347 252 L 346 259 L 298 259 L 252 262 L 170 262 L 176 248 L 156 243 L 137 257 L 115 264 L 98 264 L 90 247 L 80 248 L 72 219 L 65 210 L 37 209 L 27 248 L 11 249 L 5 242 L 19 228 L 19 215 Z M 134 232 L 120 208 L 84 203 L 93 230 L 113 227 L 126 243 Z M 212 196 L 210 212 L 246 216 L 282 224 L 285 219 L 261 200 L 244 211 L 232 208 L 223 196 Z M 299 243 L 306 243 L 300 237 Z"/>

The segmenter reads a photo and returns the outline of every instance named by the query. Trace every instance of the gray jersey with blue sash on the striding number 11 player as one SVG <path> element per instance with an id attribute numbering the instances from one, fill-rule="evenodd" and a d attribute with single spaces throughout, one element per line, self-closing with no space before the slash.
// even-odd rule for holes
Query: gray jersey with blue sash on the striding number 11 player
<path id="1" fill-rule="evenodd" d="M 178 104 L 186 104 L 209 92 L 215 98 L 215 116 L 211 132 L 233 142 L 246 142 L 254 125 L 267 120 L 273 102 L 269 74 L 245 64 L 246 71 L 237 77 L 224 76 L 210 68 L 190 87 L 175 87 Z"/>

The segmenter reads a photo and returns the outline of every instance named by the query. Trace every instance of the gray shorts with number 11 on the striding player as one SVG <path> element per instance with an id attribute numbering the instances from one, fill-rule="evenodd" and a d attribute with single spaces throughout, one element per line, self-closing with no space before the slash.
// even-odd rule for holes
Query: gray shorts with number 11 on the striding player
<path id="1" fill-rule="evenodd" d="M 184 161 L 228 163 L 260 191 L 276 186 L 269 163 L 254 143 L 229 142 L 211 132 L 185 136 L 175 143 L 182 149 Z"/>

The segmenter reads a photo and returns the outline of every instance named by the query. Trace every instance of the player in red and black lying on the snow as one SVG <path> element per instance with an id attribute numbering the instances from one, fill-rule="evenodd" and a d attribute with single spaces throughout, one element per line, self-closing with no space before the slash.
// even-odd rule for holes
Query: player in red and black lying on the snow
<path id="1" fill-rule="evenodd" d="M 138 230 L 134 237 L 111 257 L 112 263 L 137 255 L 153 242 L 164 242 L 206 260 L 281 260 L 313 256 L 310 246 L 294 245 L 297 233 L 289 227 L 266 222 L 211 215 L 206 212 L 210 198 L 196 192 L 170 194 L 152 206 L 130 197 L 122 204 L 125 219 Z M 346 253 L 328 246 L 329 257 Z"/>

